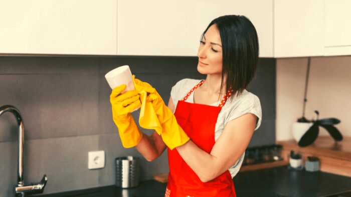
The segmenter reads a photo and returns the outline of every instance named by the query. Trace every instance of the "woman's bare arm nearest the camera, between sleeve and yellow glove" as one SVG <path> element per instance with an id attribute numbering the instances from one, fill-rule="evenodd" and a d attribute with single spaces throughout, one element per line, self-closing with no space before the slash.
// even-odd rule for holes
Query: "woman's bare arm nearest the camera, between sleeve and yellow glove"
<path id="1" fill-rule="evenodd" d="M 228 170 L 243 154 L 254 132 L 256 119 L 256 115 L 246 113 L 229 121 L 210 154 L 192 140 L 178 146 L 177 150 L 201 181 L 210 181 Z"/>

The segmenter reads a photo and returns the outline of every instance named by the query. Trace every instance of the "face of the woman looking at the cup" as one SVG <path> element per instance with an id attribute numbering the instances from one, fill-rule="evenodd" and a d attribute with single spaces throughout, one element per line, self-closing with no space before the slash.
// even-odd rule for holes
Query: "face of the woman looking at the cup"
<path id="1" fill-rule="evenodd" d="M 222 73 L 222 42 L 216 24 L 211 25 L 202 37 L 200 41 L 198 57 L 198 71 L 200 73 Z"/>

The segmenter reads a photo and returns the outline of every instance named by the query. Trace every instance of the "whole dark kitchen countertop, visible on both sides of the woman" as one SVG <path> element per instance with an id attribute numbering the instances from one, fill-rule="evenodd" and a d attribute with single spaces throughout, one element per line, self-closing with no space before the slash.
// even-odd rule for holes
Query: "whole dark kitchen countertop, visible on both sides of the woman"
<path id="1" fill-rule="evenodd" d="M 288 169 L 287 166 L 240 172 L 234 177 L 238 197 L 246 196 L 351 196 L 336 195 L 351 191 L 351 177 L 326 172 L 307 172 L 305 170 Z M 163 197 L 166 183 L 155 180 L 141 181 L 134 188 L 121 189 L 114 185 L 67 191 L 37 196 L 104 196 L 104 197 Z"/>

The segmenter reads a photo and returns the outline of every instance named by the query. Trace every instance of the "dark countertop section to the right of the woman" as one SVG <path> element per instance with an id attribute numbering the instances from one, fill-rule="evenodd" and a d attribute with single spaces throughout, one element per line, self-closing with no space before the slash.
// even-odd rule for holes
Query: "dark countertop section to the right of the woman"
<path id="1" fill-rule="evenodd" d="M 234 177 L 238 196 L 330 196 L 351 190 L 351 177 L 287 166 L 246 171 Z"/>

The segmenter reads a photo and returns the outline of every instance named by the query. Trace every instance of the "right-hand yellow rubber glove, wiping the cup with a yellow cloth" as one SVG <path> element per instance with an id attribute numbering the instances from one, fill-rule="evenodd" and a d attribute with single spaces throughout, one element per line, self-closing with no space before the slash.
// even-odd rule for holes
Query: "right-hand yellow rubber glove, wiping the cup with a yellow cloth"
<path id="1" fill-rule="evenodd" d="M 151 102 L 152 107 L 154 109 L 154 113 L 156 114 L 157 119 L 162 128 L 160 131 L 160 135 L 162 137 L 163 142 L 170 149 L 173 149 L 177 146 L 180 146 L 186 143 L 190 139 L 189 136 L 183 130 L 183 128 L 178 124 L 177 119 L 175 118 L 173 112 L 164 104 L 161 96 L 158 94 L 156 89 L 153 88 L 150 84 L 135 78 L 134 75 L 133 75 L 133 82 L 134 82 L 134 87 L 138 92 L 148 93 L 147 99 L 144 98 L 141 101 L 142 102 L 141 108 L 143 105 L 146 105 L 146 104 L 149 105 L 149 102 Z M 146 102 L 146 103 L 143 103 L 143 102 Z M 150 112 L 153 113 L 152 110 L 150 110 Z M 144 115 L 149 115 L 149 114 L 147 113 Z M 154 114 L 151 114 L 151 116 L 153 115 Z M 145 123 L 145 122 L 139 121 L 140 126 L 144 127 L 145 125 L 142 123 Z M 155 123 L 154 125 L 157 125 L 157 123 Z"/>

